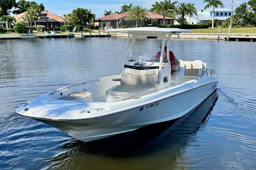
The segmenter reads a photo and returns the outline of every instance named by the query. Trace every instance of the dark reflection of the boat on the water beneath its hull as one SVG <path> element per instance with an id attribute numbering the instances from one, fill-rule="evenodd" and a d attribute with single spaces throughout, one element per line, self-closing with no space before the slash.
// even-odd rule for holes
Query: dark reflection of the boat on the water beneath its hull
<path id="1" fill-rule="evenodd" d="M 132 159 L 130 166 L 138 163 L 140 169 L 154 169 L 144 161 L 146 159 L 147 161 L 151 160 L 150 163 L 153 165 L 157 164 L 159 160 L 166 160 L 167 162 L 171 161 L 167 164 L 176 166 L 180 163 L 177 163 L 175 159 L 179 159 L 184 148 L 191 142 L 198 130 L 207 123 L 217 99 L 217 92 L 215 91 L 193 112 L 176 121 L 154 124 L 88 143 L 70 139 L 57 148 L 61 153 L 60 155 L 51 158 L 44 164 L 51 167 L 65 167 L 66 169 L 69 167 L 79 169 L 79 167 L 86 165 L 90 169 L 90 165 L 92 165 L 90 162 L 102 162 L 93 164 L 93 168 L 108 169 L 112 167 L 112 169 L 120 169 L 125 164 L 124 162 Z M 69 155 L 68 158 L 65 155 Z M 147 155 L 147 158 L 144 158 L 143 155 Z M 110 157 L 112 158 L 110 159 Z M 115 157 L 118 158 L 116 161 Z M 120 157 L 125 159 L 120 160 Z M 62 161 L 62 159 L 65 159 L 65 161 Z M 105 162 L 104 159 L 116 163 L 111 165 L 110 162 Z"/>

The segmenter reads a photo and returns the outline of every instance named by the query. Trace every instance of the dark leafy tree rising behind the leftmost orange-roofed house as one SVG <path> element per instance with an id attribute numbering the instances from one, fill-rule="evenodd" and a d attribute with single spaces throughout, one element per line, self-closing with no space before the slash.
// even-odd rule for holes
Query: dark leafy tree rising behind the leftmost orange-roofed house
<path id="1" fill-rule="evenodd" d="M 32 5 L 37 5 L 38 8 L 40 9 L 40 11 L 44 11 L 45 10 L 45 6 L 44 4 L 37 4 L 35 2 L 29 2 L 26 0 L 19 0 L 16 5 L 15 5 L 15 10 L 13 11 L 13 14 L 20 14 L 23 12 L 26 12 L 28 10 L 28 8 Z"/>

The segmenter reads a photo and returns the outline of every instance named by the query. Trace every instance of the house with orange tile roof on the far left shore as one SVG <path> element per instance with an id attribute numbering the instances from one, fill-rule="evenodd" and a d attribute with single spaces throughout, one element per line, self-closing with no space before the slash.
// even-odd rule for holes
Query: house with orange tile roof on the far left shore
<path id="1" fill-rule="evenodd" d="M 27 22 L 28 26 L 30 21 L 25 19 L 26 14 L 27 12 L 15 15 L 16 22 Z M 34 25 L 34 21 L 32 25 Z M 55 29 L 64 25 L 64 19 L 48 11 L 42 11 L 37 15 L 36 25 L 44 25 L 47 28 Z"/>

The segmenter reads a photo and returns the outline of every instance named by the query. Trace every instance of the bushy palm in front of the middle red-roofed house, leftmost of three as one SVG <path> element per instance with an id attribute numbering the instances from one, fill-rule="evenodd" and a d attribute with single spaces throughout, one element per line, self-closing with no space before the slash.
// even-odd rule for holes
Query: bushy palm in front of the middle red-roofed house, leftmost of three
<path id="1" fill-rule="evenodd" d="M 138 27 L 139 20 L 148 20 L 147 17 L 147 10 L 145 8 L 142 8 L 141 6 L 135 6 L 129 9 L 128 14 L 125 17 L 126 21 L 136 21 L 136 27 Z"/>

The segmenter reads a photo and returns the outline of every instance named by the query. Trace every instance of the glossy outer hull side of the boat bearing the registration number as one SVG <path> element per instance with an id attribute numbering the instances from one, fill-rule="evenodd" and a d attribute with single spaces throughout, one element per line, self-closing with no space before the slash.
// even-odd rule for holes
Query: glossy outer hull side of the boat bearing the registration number
<path id="1" fill-rule="evenodd" d="M 89 142 L 178 119 L 193 111 L 216 89 L 217 82 L 212 82 L 153 103 L 91 119 L 33 119 L 52 125 L 76 139 Z"/>

